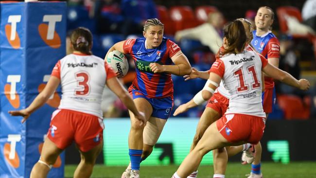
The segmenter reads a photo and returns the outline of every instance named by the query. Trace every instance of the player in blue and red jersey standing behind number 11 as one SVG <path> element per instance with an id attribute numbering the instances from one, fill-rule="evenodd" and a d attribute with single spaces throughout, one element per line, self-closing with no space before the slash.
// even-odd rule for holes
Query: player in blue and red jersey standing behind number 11
<path id="1" fill-rule="evenodd" d="M 274 21 L 274 12 L 270 7 L 260 7 L 255 17 L 256 30 L 253 31 L 252 46 L 261 53 L 269 64 L 279 68 L 280 43 L 277 37 L 271 32 L 271 25 Z M 263 92 L 263 111 L 268 118 L 268 114 L 272 112 L 275 105 L 276 94 L 274 89 L 273 78 L 269 75 L 264 76 L 264 92 Z M 261 173 L 261 155 L 262 146 L 259 142 L 255 145 L 256 156 L 251 164 L 251 172 L 248 178 L 262 178 Z M 242 160 L 244 163 L 249 158 L 243 153 Z"/>

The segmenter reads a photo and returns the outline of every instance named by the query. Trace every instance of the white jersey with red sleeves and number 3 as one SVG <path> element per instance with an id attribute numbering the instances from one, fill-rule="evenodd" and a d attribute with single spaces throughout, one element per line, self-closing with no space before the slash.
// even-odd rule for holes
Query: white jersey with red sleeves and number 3
<path id="1" fill-rule="evenodd" d="M 101 98 L 113 69 L 95 55 L 69 54 L 52 71 L 60 79 L 62 97 L 59 109 L 70 109 L 102 117 Z"/>

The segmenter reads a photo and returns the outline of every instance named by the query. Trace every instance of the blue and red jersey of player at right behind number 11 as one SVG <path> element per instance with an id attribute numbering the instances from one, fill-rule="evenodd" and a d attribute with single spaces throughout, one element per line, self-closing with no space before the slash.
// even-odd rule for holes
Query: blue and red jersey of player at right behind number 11
<path id="1" fill-rule="evenodd" d="M 271 31 L 263 36 L 257 36 L 256 33 L 256 30 L 252 32 L 252 46 L 267 59 L 280 58 L 280 42 L 277 37 Z M 264 86 L 266 89 L 273 89 L 273 78 L 264 77 Z"/>

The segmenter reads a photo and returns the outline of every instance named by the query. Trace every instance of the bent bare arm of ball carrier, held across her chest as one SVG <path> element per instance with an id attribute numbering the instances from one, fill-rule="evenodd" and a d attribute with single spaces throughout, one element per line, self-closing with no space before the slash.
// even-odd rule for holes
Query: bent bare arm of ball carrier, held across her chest
<path id="1" fill-rule="evenodd" d="M 174 75 L 189 75 L 191 73 L 191 65 L 188 58 L 181 52 L 177 52 L 171 57 L 175 65 L 160 65 L 158 63 L 150 63 L 149 67 L 154 73 L 167 72 Z"/>

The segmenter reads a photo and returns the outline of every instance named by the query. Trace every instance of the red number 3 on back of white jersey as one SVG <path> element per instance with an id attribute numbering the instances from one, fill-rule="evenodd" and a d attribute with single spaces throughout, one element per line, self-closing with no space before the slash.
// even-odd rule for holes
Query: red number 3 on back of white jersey
<path id="1" fill-rule="evenodd" d="M 78 88 L 74 90 L 74 95 L 88 95 L 90 92 L 89 74 L 86 71 L 79 71 L 75 73 L 75 78 Z"/>

